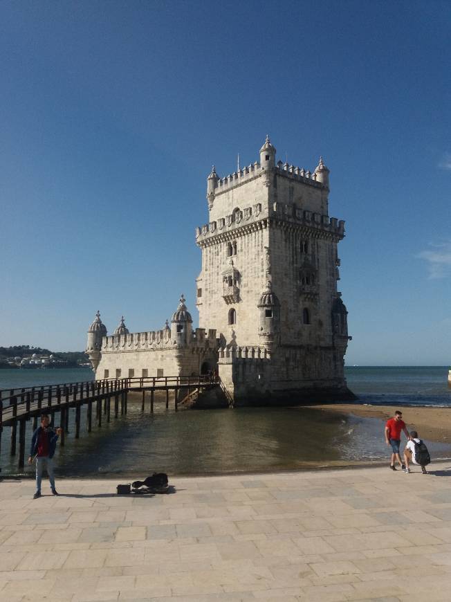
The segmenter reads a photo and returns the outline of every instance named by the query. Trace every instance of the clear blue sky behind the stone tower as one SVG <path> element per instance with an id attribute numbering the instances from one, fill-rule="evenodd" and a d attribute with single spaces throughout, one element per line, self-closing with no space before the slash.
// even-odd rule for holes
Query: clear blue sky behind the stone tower
<path id="1" fill-rule="evenodd" d="M 193 316 L 206 176 L 331 170 L 348 364 L 451 358 L 449 2 L 0 3 L 0 345 Z"/>

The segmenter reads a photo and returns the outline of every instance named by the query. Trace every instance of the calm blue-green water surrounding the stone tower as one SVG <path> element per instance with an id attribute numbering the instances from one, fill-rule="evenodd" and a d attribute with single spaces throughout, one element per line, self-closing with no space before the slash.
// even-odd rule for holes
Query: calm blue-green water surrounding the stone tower
<path id="1" fill-rule="evenodd" d="M 0 388 L 84 381 L 91 370 L 1 370 Z M 358 403 L 451 405 L 448 367 L 349 367 L 349 388 Z M 165 410 L 144 414 L 138 396 L 129 396 L 127 417 L 111 419 L 80 439 L 71 433 L 55 456 L 64 476 L 145 476 L 266 471 L 387 459 L 383 421 L 328 414 L 306 408 Z M 82 420 L 85 412 L 82 410 Z M 55 422 L 59 423 L 58 414 Z M 27 441 L 31 423 L 27 425 Z M 428 442 L 433 457 L 451 457 L 451 441 Z M 9 455 L 9 429 L 3 429 L 2 474 L 17 474 Z M 33 475 L 26 467 L 24 474 Z"/>

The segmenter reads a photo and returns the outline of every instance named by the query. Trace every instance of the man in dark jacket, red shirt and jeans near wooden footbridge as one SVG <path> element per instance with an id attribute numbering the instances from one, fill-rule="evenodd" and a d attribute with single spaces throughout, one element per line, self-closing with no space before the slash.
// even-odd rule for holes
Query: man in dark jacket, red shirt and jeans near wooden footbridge
<path id="1" fill-rule="evenodd" d="M 48 414 L 42 414 L 41 426 L 38 426 L 33 437 L 31 438 L 30 457 L 28 464 L 33 463 L 33 457 L 36 457 L 36 493 L 33 499 L 41 497 L 41 481 L 44 467 L 47 469 L 48 480 L 50 481 L 50 489 L 53 495 L 58 495 L 55 489 L 55 476 L 53 475 L 53 456 L 55 455 L 56 442 L 61 435 L 61 428 L 57 428 L 56 432 L 53 428 L 49 428 L 50 419 Z"/>

